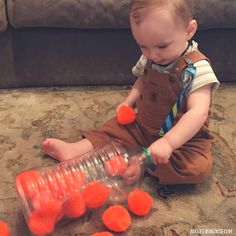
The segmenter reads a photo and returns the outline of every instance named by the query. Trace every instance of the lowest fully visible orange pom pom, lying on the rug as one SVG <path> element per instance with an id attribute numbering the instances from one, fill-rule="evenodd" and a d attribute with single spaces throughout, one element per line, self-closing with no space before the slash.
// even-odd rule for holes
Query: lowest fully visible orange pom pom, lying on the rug
<path id="1" fill-rule="evenodd" d="M 102 222 L 109 230 L 124 232 L 131 225 L 131 217 L 123 206 L 114 205 L 103 213 Z"/>

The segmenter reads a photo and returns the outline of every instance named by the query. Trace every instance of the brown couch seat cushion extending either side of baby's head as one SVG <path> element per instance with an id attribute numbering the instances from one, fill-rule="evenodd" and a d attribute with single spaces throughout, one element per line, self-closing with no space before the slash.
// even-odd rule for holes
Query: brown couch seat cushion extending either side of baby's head
<path id="1" fill-rule="evenodd" d="M 236 28 L 235 0 L 191 0 L 200 29 Z M 3 2 L 3 0 L 0 0 Z M 130 0 L 8 0 L 15 28 L 129 28 Z"/>

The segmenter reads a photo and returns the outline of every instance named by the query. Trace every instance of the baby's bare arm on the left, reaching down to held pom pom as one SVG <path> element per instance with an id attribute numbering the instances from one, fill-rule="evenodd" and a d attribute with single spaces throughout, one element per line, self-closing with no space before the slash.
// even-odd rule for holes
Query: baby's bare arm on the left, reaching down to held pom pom
<path id="1" fill-rule="evenodd" d="M 134 83 L 132 89 L 129 92 L 129 95 L 126 97 L 126 99 L 118 106 L 117 110 L 121 106 L 129 106 L 134 107 L 136 100 L 140 96 L 140 91 L 142 87 L 142 76 L 140 76 Z"/>

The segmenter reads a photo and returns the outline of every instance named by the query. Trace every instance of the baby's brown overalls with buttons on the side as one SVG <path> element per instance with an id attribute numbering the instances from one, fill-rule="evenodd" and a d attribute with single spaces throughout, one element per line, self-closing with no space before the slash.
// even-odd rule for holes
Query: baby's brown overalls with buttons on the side
<path id="1" fill-rule="evenodd" d="M 170 73 L 160 73 L 152 69 L 151 63 L 148 62 L 143 75 L 141 95 L 136 102 L 136 121 L 123 126 L 117 123 L 116 118 L 112 118 L 101 128 L 85 133 L 84 137 L 94 147 L 110 139 L 119 139 L 133 150 L 138 150 L 141 146 L 150 146 L 160 138 L 159 131 L 181 92 L 180 75 L 187 66 L 184 57 L 191 59 L 193 63 L 206 60 L 199 51 L 192 51 L 180 57 Z M 185 111 L 184 98 L 174 124 Z M 212 136 L 208 130 L 208 123 L 209 119 L 191 140 L 174 150 L 167 164 L 158 164 L 155 172 L 150 169 L 148 172 L 158 177 L 161 184 L 206 181 L 212 166 Z"/>

